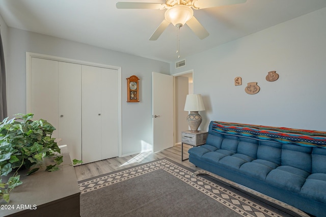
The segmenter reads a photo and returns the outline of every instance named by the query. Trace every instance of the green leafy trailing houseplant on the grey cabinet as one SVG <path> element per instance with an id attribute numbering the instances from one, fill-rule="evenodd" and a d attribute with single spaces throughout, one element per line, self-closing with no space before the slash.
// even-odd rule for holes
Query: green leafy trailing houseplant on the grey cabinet
<path id="1" fill-rule="evenodd" d="M 18 114 L 17 117 L 5 118 L 0 123 L 0 199 L 9 202 L 10 192 L 22 184 L 18 170 L 29 169 L 26 175 L 31 175 L 40 169 L 40 163 L 45 157 L 53 157 L 53 164 L 45 171 L 59 170 L 63 162 L 60 148 L 51 138 L 56 130 L 46 120 L 32 120 L 34 114 Z M 82 163 L 76 159 L 73 164 Z M 11 175 L 8 181 L 2 177 Z"/>

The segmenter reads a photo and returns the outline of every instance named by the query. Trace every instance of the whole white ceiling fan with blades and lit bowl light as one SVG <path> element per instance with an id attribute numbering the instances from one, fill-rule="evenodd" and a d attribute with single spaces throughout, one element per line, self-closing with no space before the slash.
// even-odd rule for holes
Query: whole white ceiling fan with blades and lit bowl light
<path id="1" fill-rule="evenodd" d="M 155 32 L 149 38 L 155 41 L 164 32 L 170 23 L 177 28 L 187 24 L 189 28 L 197 35 L 198 38 L 204 39 L 209 36 L 207 30 L 194 17 L 194 11 L 204 8 L 214 8 L 224 5 L 242 4 L 247 0 L 166 0 L 162 3 L 140 3 L 140 2 L 118 2 L 117 9 L 159 9 L 164 10 L 165 19 L 159 24 Z"/>

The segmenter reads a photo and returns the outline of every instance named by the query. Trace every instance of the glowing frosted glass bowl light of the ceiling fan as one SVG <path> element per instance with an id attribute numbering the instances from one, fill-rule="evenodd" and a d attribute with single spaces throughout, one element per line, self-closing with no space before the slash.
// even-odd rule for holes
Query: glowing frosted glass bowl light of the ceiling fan
<path id="1" fill-rule="evenodd" d="M 169 8 L 164 16 L 165 19 L 171 22 L 174 26 L 181 27 L 194 16 L 194 11 L 187 6 L 176 5 Z"/>

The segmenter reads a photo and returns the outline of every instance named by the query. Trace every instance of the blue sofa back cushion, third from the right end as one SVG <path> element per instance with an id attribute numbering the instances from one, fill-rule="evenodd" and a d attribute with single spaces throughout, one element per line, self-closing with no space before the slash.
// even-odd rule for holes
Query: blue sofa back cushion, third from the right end
<path id="1" fill-rule="evenodd" d="M 257 159 L 273 162 L 281 166 L 282 144 L 278 142 L 259 141 Z"/>

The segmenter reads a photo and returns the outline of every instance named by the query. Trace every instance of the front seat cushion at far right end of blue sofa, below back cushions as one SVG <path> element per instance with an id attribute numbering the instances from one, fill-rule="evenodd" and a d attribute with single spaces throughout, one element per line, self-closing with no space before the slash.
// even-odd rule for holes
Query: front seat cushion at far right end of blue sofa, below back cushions
<path id="1" fill-rule="evenodd" d="M 301 189 L 301 193 L 314 200 L 325 202 L 326 201 L 326 174 L 314 173 L 308 176 L 305 184 Z"/>

